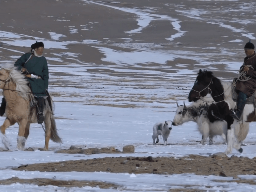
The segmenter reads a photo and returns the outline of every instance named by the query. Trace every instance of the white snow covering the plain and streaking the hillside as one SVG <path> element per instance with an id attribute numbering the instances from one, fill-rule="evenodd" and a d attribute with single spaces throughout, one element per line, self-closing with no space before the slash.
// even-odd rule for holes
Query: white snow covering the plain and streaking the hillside
<path id="1" fill-rule="evenodd" d="M 89 1 L 85 1 L 89 2 Z M 216 1 L 218 2 L 218 1 Z M 220 1 L 221 2 L 221 1 Z M 233 1 L 231 1 L 233 2 Z M 234 1 L 237 3 L 237 1 Z M 91 2 L 93 3 L 93 2 Z M 104 3 L 97 2 L 101 6 Z M 253 3 L 251 3 L 253 4 Z M 248 5 L 251 5 L 248 4 Z M 253 4 L 255 5 L 255 3 Z M 166 6 L 169 6 L 166 4 Z M 129 12 L 138 15 L 138 28 L 126 33 L 139 33 L 143 28 L 149 25 L 150 21 L 155 18 L 169 20 L 177 33 L 170 36 L 168 40 L 179 38 L 185 34 L 181 30 L 179 21 L 172 17 L 156 15 L 150 9 L 138 8 L 119 8 L 115 7 L 112 2 L 109 8 L 118 9 L 123 12 Z M 243 5 L 242 7 L 247 7 Z M 255 7 L 255 6 L 254 6 Z M 241 7 L 240 7 L 241 8 Z M 209 11 L 208 9 L 206 12 Z M 226 10 L 228 11 L 228 10 Z M 231 11 L 231 10 L 230 10 Z M 238 12 L 238 10 L 233 10 Z M 255 40 L 255 31 L 245 31 L 229 25 L 224 25 L 221 20 L 210 22 L 211 18 L 200 17 L 201 10 L 185 11 L 180 7 L 180 13 L 187 17 L 206 20 L 209 24 L 217 25 L 239 33 L 234 43 L 240 43 L 242 37 L 248 37 Z M 205 13 L 205 12 L 204 12 Z M 208 12 L 209 13 L 209 12 Z M 245 19 L 246 20 L 246 19 Z M 247 21 L 255 22 L 255 19 L 248 18 Z M 241 21 L 240 21 L 241 22 Z M 240 23 L 238 22 L 238 23 Z M 70 24 L 72 25 L 72 24 Z M 235 24 L 234 24 L 235 25 Z M 72 31 L 71 31 L 72 32 Z M 71 33 L 70 32 L 70 33 Z M 73 33 L 73 32 L 72 32 Z M 18 125 L 15 124 L 6 130 L 6 136 L 12 143 L 12 151 L 0 152 L 0 180 L 11 177 L 18 178 L 55 178 L 58 180 L 98 180 L 106 182 L 114 182 L 123 187 L 118 189 L 100 189 L 98 187 L 83 188 L 65 188 L 56 186 L 37 186 L 27 184 L 0 185 L 1 192 L 23 192 L 23 191 L 172 191 L 172 189 L 195 189 L 198 191 L 232 191 L 232 192 L 250 192 L 255 191 L 256 186 L 250 184 L 228 182 L 236 180 L 231 177 L 219 176 L 200 176 L 195 174 L 175 174 L 175 175 L 156 175 L 156 174 L 128 174 L 128 173 L 106 173 L 106 172 L 24 172 L 11 170 L 9 168 L 33 163 L 43 162 L 59 162 L 66 160 L 100 158 L 100 157 L 119 157 L 120 154 L 61 154 L 55 153 L 58 149 L 69 148 L 71 145 L 77 147 L 110 147 L 122 150 L 125 145 L 134 145 L 135 154 L 133 156 L 167 156 L 182 157 L 188 154 L 206 155 L 216 152 L 224 152 L 226 145 L 222 144 L 222 138 L 214 138 L 214 145 L 201 145 L 201 135 L 197 131 L 196 123 L 188 122 L 181 126 L 173 126 L 172 132 L 167 140 L 168 145 L 152 145 L 152 127 L 156 122 L 164 120 L 173 120 L 176 111 L 176 100 L 179 104 L 187 101 L 187 96 L 196 78 L 196 72 L 199 68 L 204 67 L 214 72 L 237 72 L 242 59 L 243 51 L 236 50 L 234 55 L 241 55 L 241 60 L 227 59 L 223 69 L 216 68 L 220 64 L 219 59 L 214 59 L 217 55 L 206 55 L 191 52 L 175 52 L 164 50 L 153 50 L 152 44 L 129 43 L 130 39 L 125 39 L 125 43 L 115 43 L 114 46 L 136 47 L 136 51 L 125 52 L 116 51 L 111 48 L 102 46 L 97 40 L 84 40 L 84 44 L 90 44 L 97 48 L 104 58 L 102 61 L 115 63 L 115 65 L 94 65 L 77 59 L 77 55 L 72 53 L 72 49 L 64 52 L 67 45 L 78 44 L 77 41 L 59 41 L 63 37 L 62 34 L 51 32 L 51 39 L 36 38 L 45 43 L 46 49 L 61 49 L 61 54 L 55 54 L 56 57 L 48 57 L 48 66 L 50 73 L 49 92 L 54 96 L 55 101 L 55 117 L 57 129 L 63 144 L 59 145 L 50 141 L 50 151 L 17 151 L 16 137 L 18 134 Z M 0 31 L 0 41 L 9 45 L 9 48 L 0 47 L 1 54 L 4 51 L 11 51 L 15 54 L 23 52 L 13 49 L 11 46 L 30 46 L 34 40 L 25 39 L 30 37 L 24 34 L 12 33 L 10 31 Z M 31 37 L 32 38 L 32 37 Z M 132 37 L 131 37 L 132 38 Z M 153 45 L 155 48 L 158 45 Z M 211 45 L 214 48 L 214 45 Z M 152 49 L 151 49 L 152 48 Z M 209 51 L 209 48 L 208 48 Z M 231 53 L 233 50 L 222 50 L 222 54 Z M 14 62 L 19 56 L 12 57 Z M 62 59 L 70 59 L 69 63 L 61 64 Z M 186 64 L 177 64 L 175 66 L 166 66 L 167 60 L 175 58 L 196 60 L 198 65 L 188 67 Z M 2 66 L 6 60 L 0 62 Z M 56 65 L 56 62 L 59 62 Z M 142 63 L 158 63 L 159 65 L 149 65 L 142 68 Z M 67 65 L 68 64 L 68 65 Z M 128 67 L 127 67 L 128 66 Z M 97 72 L 92 72 L 97 69 Z M 166 70 L 166 71 L 163 71 Z M 171 71 L 173 70 L 173 71 Z M 102 71 L 102 73 L 101 73 Z M 62 75 L 63 74 L 63 75 Z M 119 74 L 119 75 L 115 75 Z M 120 75 L 121 74 L 121 75 Z M 126 76 L 127 74 L 127 76 Z M 222 77 L 225 80 L 231 80 Z M 5 117 L 0 118 L 0 124 L 4 122 Z M 256 123 L 250 124 L 250 131 L 246 140 L 244 140 L 243 153 L 240 154 L 233 150 L 232 155 L 245 156 L 253 158 L 256 156 Z M 30 126 L 30 135 L 26 142 L 26 147 L 37 149 L 44 147 L 44 131 L 41 125 L 32 124 Z M 160 138 L 159 144 L 163 144 Z M 1 143 L 0 148 L 4 148 Z M 131 154 L 122 154 L 122 156 L 131 156 Z M 241 179 L 253 179 L 256 181 L 255 175 L 239 175 Z M 227 182 L 216 182 L 213 180 L 227 180 Z M 206 187 L 207 186 L 207 187 Z"/>

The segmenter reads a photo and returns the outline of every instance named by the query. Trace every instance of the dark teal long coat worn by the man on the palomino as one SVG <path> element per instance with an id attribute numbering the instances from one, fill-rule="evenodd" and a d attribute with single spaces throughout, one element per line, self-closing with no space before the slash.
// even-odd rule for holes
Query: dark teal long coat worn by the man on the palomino
<path id="1" fill-rule="evenodd" d="M 28 60 L 30 55 L 32 56 Z M 27 80 L 29 81 L 31 91 L 36 97 L 47 96 L 46 89 L 48 90 L 49 71 L 47 61 L 44 56 L 37 57 L 31 52 L 25 53 L 15 62 L 14 66 L 18 67 L 18 70 L 21 70 L 24 67 L 27 69 L 29 74 L 40 76 L 42 79 L 27 77 Z"/>

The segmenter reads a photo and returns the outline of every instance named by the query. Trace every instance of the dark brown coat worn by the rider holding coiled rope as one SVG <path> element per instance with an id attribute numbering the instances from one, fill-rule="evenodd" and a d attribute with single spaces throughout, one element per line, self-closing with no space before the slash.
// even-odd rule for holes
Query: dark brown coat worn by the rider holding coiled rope
<path id="1" fill-rule="evenodd" d="M 243 67 L 246 65 L 251 65 L 253 67 L 253 69 L 249 67 L 249 70 L 246 75 L 246 77 L 249 76 L 251 77 L 251 79 L 248 81 L 238 80 L 236 85 L 236 90 L 242 91 L 243 93 L 247 94 L 248 97 L 251 97 L 256 90 L 256 54 L 255 52 L 249 58 L 248 57 L 244 58 L 243 65 L 240 67 L 240 72 L 242 72 Z"/>

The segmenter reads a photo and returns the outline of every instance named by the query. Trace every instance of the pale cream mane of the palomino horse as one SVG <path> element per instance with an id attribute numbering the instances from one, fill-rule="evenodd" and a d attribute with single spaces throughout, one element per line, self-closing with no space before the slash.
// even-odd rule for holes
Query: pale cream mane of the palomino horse
<path id="1" fill-rule="evenodd" d="M 10 73 L 11 80 L 16 84 L 17 93 L 23 98 L 28 99 L 28 94 L 31 93 L 31 90 L 28 87 L 28 81 L 25 76 L 12 63 L 6 63 L 2 68 Z"/>

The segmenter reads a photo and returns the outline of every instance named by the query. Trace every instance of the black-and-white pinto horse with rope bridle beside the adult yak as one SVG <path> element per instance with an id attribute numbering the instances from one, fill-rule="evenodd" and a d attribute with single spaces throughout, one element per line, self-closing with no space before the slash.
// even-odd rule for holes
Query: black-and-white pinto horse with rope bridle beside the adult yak
<path id="1" fill-rule="evenodd" d="M 226 154 L 232 152 L 232 148 L 235 148 L 240 153 L 243 152 L 241 148 L 241 139 L 235 137 L 234 130 L 239 130 L 239 137 L 246 138 L 249 132 L 248 117 L 255 115 L 253 104 L 246 104 L 243 110 L 242 120 L 237 121 L 230 115 L 230 109 L 236 106 L 236 102 L 232 99 L 231 87 L 232 82 L 224 82 L 216 78 L 211 71 L 199 70 L 195 84 L 188 95 L 188 101 L 197 101 L 204 99 L 208 93 L 216 102 L 211 104 L 208 108 L 208 114 L 212 114 L 209 119 L 210 122 L 224 120 L 227 122 L 227 149 Z M 236 129 L 236 126 L 240 126 Z M 236 134 L 237 135 L 237 134 Z"/>

